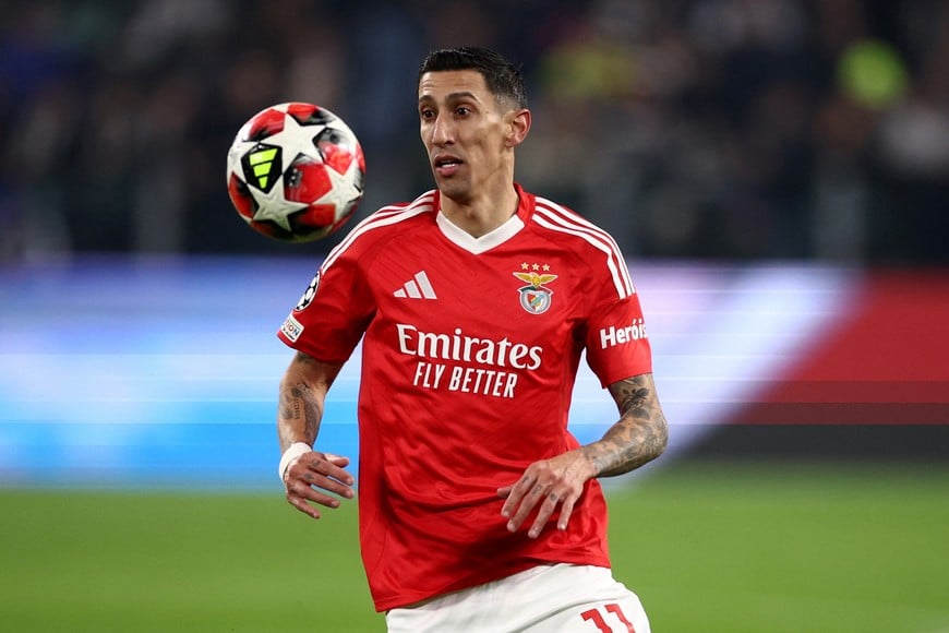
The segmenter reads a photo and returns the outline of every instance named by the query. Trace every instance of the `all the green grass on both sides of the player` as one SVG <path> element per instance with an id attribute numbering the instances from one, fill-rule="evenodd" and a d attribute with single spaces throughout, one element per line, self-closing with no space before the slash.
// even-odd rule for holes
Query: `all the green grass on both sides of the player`
<path id="1" fill-rule="evenodd" d="M 674 466 L 611 488 L 661 632 L 949 631 L 949 469 Z M 356 513 L 274 494 L 0 491 L 4 631 L 384 631 Z"/>

